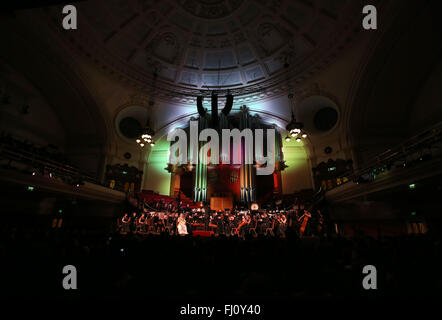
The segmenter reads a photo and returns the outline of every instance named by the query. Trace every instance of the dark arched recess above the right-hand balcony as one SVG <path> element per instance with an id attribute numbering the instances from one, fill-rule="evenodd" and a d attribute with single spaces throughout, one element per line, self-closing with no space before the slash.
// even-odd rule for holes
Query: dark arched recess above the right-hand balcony
<path id="1" fill-rule="evenodd" d="M 407 14 L 382 35 L 369 62 L 361 61 L 364 76 L 347 119 L 359 164 L 441 119 L 440 107 L 426 102 L 441 78 L 434 5 L 403 8 Z"/>

